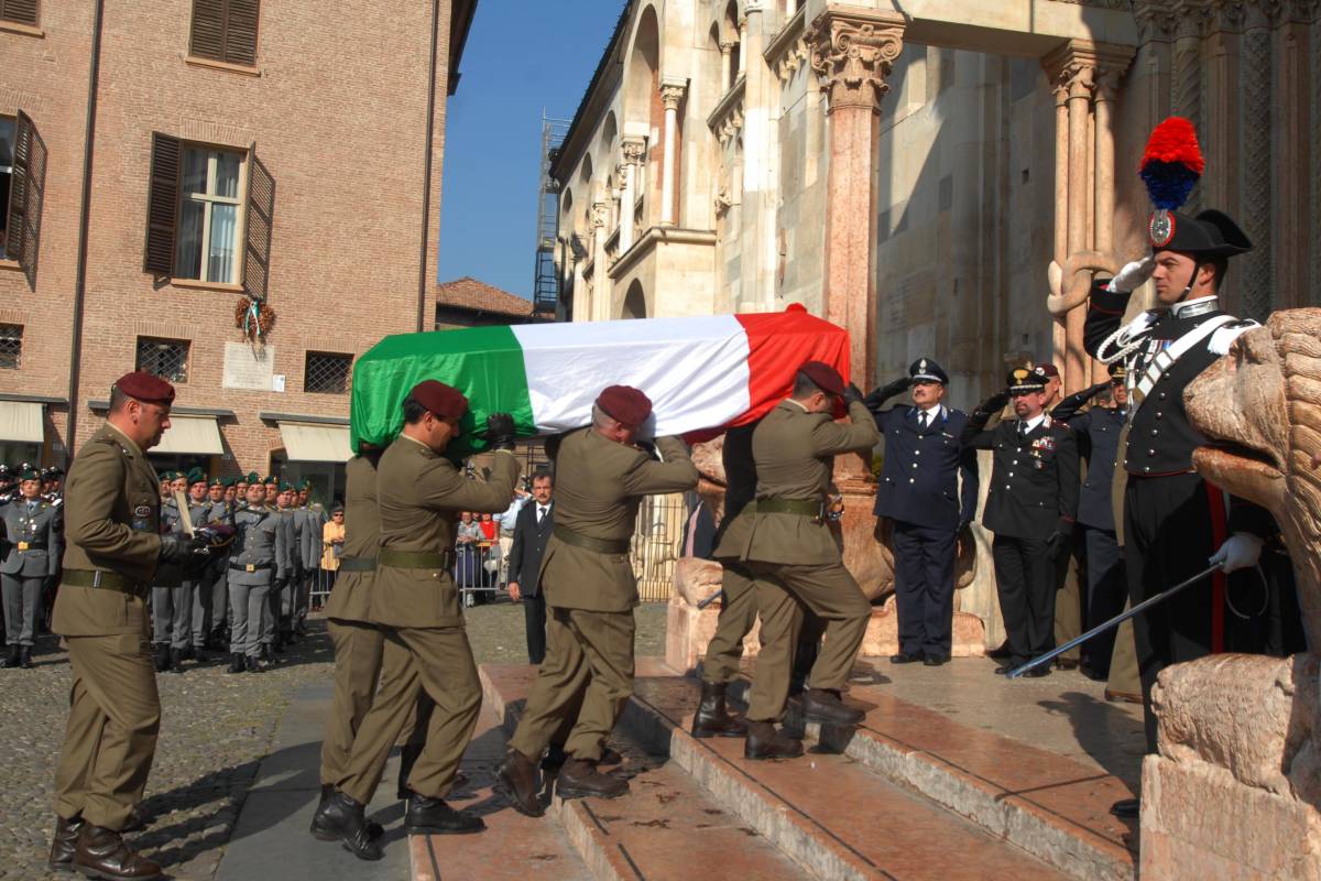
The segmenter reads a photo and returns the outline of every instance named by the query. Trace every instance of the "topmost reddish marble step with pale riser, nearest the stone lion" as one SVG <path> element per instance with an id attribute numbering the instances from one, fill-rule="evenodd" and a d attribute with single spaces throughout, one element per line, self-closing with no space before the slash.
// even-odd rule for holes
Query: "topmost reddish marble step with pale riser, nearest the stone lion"
<path id="1" fill-rule="evenodd" d="M 694 682 L 694 688 L 696 688 Z M 748 679 L 731 687 L 742 700 Z M 1110 806 L 1132 798 L 1119 778 L 1073 758 L 890 696 L 851 686 L 848 701 L 868 711 L 856 729 L 806 725 L 807 737 L 886 779 L 963 815 L 991 835 L 1074 878 L 1131 881 L 1137 855 L 1129 826 Z M 790 704 L 786 724 L 804 722 Z"/>

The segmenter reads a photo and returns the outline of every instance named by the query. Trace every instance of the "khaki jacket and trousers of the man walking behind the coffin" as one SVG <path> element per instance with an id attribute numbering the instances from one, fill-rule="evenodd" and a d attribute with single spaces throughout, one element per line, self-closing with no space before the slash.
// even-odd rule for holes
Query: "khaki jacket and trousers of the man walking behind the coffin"
<path id="1" fill-rule="evenodd" d="M 160 729 L 144 602 L 160 556 L 160 506 L 156 472 L 108 424 L 69 469 L 53 629 L 65 638 L 74 683 L 55 812 L 116 832 L 143 798 Z M 102 586 L 83 586 L 95 572 Z"/>

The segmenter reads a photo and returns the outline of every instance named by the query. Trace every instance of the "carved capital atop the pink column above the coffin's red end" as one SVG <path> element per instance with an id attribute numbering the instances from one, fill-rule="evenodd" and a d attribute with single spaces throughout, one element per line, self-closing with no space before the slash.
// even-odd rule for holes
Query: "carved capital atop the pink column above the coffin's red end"
<path id="1" fill-rule="evenodd" d="M 830 9 L 812 21 L 806 40 L 812 70 L 830 92 L 830 112 L 857 107 L 880 112 L 885 82 L 904 49 L 905 18 L 893 13 Z"/>

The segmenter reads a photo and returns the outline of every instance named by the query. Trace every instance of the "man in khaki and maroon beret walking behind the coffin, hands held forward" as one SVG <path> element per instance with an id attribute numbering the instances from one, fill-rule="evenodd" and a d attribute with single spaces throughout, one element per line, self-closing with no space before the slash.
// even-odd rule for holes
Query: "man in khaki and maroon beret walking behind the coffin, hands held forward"
<path id="1" fill-rule="evenodd" d="M 174 388 L 151 374 L 120 378 L 106 424 L 69 473 L 54 630 L 74 682 L 55 767 L 55 870 L 160 877 L 122 832 L 133 826 L 160 729 L 144 598 L 161 564 L 207 559 L 205 540 L 160 530 L 160 485 L 144 453 L 169 428 L 173 400 Z"/>

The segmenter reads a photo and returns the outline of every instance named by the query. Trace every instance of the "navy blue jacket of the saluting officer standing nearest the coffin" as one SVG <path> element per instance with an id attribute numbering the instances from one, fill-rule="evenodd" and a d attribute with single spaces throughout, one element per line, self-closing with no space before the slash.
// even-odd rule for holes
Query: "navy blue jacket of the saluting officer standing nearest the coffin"
<path id="1" fill-rule="evenodd" d="M 952 531 L 978 511 L 978 458 L 959 444 L 968 417 L 942 405 L 926 431 L 919 431 L 919 412 L 908 405 L 876 413 L 876 428 L 885 437 L 885 466 L 875 512 Z"/>

